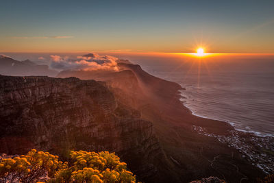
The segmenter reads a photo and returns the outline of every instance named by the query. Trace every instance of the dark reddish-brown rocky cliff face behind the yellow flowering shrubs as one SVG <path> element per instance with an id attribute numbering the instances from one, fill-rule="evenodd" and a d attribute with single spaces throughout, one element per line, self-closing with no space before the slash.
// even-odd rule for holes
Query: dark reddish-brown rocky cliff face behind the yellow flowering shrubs
<path id="1" fill-rule="evenodd" d="M 164 153 L 152 123 L 117 102 L 103 82 L 0 75 L 0 152 L 115 151 L 145 180 Z"/>

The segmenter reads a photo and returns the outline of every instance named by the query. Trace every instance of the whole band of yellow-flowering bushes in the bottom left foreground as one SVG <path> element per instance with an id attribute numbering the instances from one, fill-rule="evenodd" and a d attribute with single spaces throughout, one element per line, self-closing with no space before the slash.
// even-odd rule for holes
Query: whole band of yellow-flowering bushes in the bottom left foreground
<path id="1" fill-rule="evenodd" d="M 69 163 L 49 152 L 32 149 L 0 162 L 0 182 L 136 182 L 114 153 L 71 151 Z"/>

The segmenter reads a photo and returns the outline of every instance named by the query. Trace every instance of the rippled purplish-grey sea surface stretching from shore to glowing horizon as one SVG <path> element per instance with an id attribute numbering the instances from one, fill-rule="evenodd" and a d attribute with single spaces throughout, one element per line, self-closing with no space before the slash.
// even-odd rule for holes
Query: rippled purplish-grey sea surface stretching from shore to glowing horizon
<path id="1" fill-rule="evenodd" d="M 182 102 L 199 117 L 227 121 L 236 130 L 274 136 L 273 56 L 133 59 L 145 71 L 177 82 Z"/>

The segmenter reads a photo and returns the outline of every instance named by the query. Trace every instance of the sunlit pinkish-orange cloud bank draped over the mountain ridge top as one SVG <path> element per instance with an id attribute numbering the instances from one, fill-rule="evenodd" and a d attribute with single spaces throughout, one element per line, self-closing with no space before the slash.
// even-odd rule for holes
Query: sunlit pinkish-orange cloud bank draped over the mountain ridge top
<path id="1" fill-rule="evenodd" d="M 91 57 L 92 56 L 92 57 Z M 51 67 L 62 70 L 117 70 L 117 60 L 113 56 L 99 56 L 96 53 L 90 53 L 86 56 L 77 56 L 76 59 L 51 55 Z"/>

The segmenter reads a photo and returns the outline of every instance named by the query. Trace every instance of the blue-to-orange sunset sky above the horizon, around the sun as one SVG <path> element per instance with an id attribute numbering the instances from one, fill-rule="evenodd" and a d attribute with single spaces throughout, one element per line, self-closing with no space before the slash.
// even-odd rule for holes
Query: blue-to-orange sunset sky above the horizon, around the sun
<path id="1" fill-rule="evenodd" d="M 1 52 L 274 53 L 274 1 L 1 0 Z"/>

